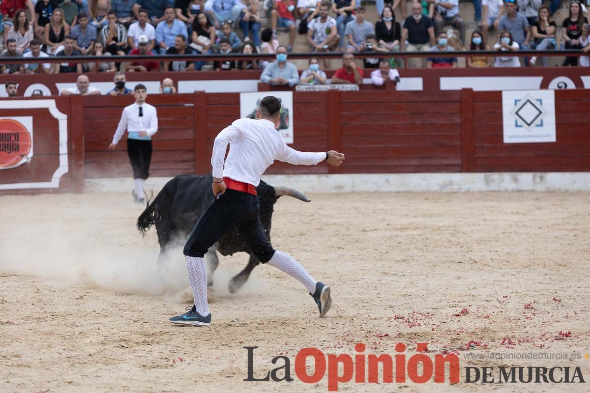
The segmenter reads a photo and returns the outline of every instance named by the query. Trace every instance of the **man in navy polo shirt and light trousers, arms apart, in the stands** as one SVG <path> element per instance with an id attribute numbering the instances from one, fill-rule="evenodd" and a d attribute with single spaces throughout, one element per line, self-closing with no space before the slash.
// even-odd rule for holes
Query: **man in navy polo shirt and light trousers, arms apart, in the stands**
<path id="1" fill-rule="evenodd" d="M 399 42 L 400 49 L 408 52 L 425 52 L 434 47 L 436 40 L 434 37 L 434 24 L 432 19 L 424 15 L 422 5 L 419 3 L 412 4 L 412 15 L 404 21 L 402 37 Z M 408 45 L 406 45 L 408 41 Z M 424 67 L 424 59 L 408 59 L 410 68 Z"/>

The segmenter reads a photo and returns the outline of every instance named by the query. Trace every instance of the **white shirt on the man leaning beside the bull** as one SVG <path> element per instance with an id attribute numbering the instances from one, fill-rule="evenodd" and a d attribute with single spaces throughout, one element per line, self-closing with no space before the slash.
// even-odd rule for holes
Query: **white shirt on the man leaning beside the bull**
<path id="1" fill-rule="evenodd" d="M 230 153 L 225 160 L 227 145 Z M 241 118 L 225 127 L 215 138 L 211 165 L 214 177 L 258 186 L 260 176 L 274 160 L 289 164 L 315 165 L 326 159 L 326 152 L 304 153 L 287 146 L 283 136 L 269 120 Z"/>

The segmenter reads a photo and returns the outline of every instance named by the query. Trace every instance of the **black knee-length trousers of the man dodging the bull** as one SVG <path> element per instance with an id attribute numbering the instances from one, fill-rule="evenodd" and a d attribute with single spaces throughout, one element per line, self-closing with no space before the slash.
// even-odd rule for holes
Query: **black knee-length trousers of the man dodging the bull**
<path id="1" fill-rule="evenodd" d="M 186 241 L 184 255 L 203 257 L 232 226 L 260 262 L 266 263 L 273 257 L 273 246 L 260 222 L 258 196 L 230 189 L 215 199 L 196 222 Z"/>

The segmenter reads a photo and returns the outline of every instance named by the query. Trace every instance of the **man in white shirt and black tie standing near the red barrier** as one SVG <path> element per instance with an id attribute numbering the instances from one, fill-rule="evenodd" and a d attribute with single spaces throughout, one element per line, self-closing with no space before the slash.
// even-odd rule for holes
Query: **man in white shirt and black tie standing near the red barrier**
<path id="1" fill-rule="evenodd" d="M 127 154 L 133 168 L 133 183 L 135 190 L 131 191 L 135 202 L 144 203 L 143 181 L 148 179 L 149 164 L 152 161 L 152 135 L 158 132 L 158 113 L 156 108 L 146 103 L 146 87 L 138 84 L 134 89 L 135 103 L 125 107 L 111 150 L 117 146 L 127 129 Z"/>

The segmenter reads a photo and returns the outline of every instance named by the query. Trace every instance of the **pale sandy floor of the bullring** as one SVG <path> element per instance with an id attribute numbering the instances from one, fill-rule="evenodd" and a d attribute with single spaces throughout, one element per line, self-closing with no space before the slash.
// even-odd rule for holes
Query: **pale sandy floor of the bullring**
<path id="1" fill-rule="evenodd" d="M 247 261 L 222 258 L 210 328 L 167 319 L 152 229 L 125 193 L 0 197 L 0 392 L 327 391 L 296 377 L 299 349 L 394 355 L 397 342 L 464 346 L 458 385 L 340 384 L 340 391 L 589 391 L 590 359 L 466 359 L 590 352 L 588 193 L 312 194 L 281 198 L 273 245 L 332 286 L 325 319 L 303 286 L 270 266 L 237 295 Z M 172 278 L 186 288 L 182 252 Z M 186 291 L 184 292 L 186 298 Z M 561 333 L 560 333 L 561 332 Z M 286 355 L 293 382 L 245 382 Z M 282 365 L 282 361 L 278 365 Z M 576 366 L 585 384 L 466 384 L 467 366 Z M 311 371 L 310 371 L 311 372 Z M 281 374 L 282 375 L 282 374 Z M 399 389 L 399 390 L 398 390 Z"/>

